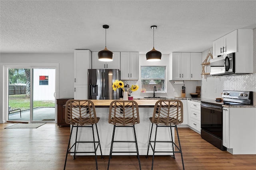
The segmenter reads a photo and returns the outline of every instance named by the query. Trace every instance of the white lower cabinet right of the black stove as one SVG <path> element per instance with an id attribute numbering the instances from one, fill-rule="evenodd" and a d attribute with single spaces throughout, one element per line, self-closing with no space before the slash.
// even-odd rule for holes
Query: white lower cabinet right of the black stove
<path id="1" fill-rule="evenodd" d="M 223 146 L 232 154 L 256 154 L 256 108 L 223 107 Z"/>

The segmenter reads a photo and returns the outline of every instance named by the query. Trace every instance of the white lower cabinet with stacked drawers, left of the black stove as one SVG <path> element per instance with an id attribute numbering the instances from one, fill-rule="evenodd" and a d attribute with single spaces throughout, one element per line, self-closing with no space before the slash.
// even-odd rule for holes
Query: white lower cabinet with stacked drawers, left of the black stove
<path id="1" fill-rule="evenodd" d="M 201 102 L 190 101 L 189 126 L 196 132 L 201 132 Z"/>

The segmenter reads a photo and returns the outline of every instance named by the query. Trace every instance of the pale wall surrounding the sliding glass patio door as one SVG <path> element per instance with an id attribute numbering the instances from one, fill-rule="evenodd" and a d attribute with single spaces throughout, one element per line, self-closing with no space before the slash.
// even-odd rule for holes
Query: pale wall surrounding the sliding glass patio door
<path id="1" fill-rule="evenodd" d="M 1 53 L 0 60 L 0 123 L 3 123 L 4 99 L 4 65 L 47 65 L 58 63 L 59 87 L 56 90 L 58 98 L 74 97 L 74 54 L 18 54 Z M 66 91 L 64 92 L 64 88 Z"/>

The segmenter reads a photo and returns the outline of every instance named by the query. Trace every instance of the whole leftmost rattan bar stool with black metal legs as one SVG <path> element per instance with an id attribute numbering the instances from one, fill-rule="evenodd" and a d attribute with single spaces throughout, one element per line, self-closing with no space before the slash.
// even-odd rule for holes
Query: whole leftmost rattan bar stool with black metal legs
<path id="1" fill-rule="evenodd" d="M 98 146 L 100 146 L 100 138 L 99 138 L 99 133 L 98 133 L 98 128 L 97 128 L 97 123 L 100 120 L 99 117 L 96 116 L 95 112 L 95 106 L 94 103 L 90 100 L 74 100 L 70 99 L 66 102 L 66 112 L 65 112 L 65 121 L 66 123 L 72 125 L 71 131 L 70 131 L 70 137 L 68 141 L 68 148 L 66 152 L 66 159 L 65 159 L 65 164 L 64 164 L 64 170 L 66 168 L 66 162 L 67 162 L 67 157 L 68 154 L 74 154 L 73 159 L 76 158 L 77 153 L 94 153 L 95 154 L 95 161 L 96 161 L 96 169 L 98 170 L 98 163 L 97 163 L 97 155 L 96 151 L 98 149 Z M 98 136 L 98 141 L 95 141 L 94 137 L 94 126 L 96 127 L 97 131 L 97 136 Z M 74 144 L 72 146 L 70 145 L 71 137 L 72 137 L 72 132 L 73 128 L 76 128 L 76 140 L 74 141 Z M 92 128 L 92 137 L 93 141 L 78 141 L 77 140 L 77 134 L 78 134 L 78 128 Z M 78 143 L 93 143 L 94 144 L 94 151 L 77 151 L 77 144 Z M 97 143 L 97 145 L 96 145 Z M 72 151 L 74 150 L 74 151 Z M 102 150 L 100 146 L 100 153 L 101 153 L 101 158 L 102 157 Z"/>

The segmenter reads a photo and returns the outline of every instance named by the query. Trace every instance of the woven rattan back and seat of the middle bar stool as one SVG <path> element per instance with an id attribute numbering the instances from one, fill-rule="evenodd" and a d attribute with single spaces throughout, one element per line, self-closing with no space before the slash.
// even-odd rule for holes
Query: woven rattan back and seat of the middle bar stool
<path id="1" fill-rule="evenodd" d="M 108 123 L 113 125 L 135 125 L 140 123 L 136 101 L 115 100 L 110 103 Z"/>

